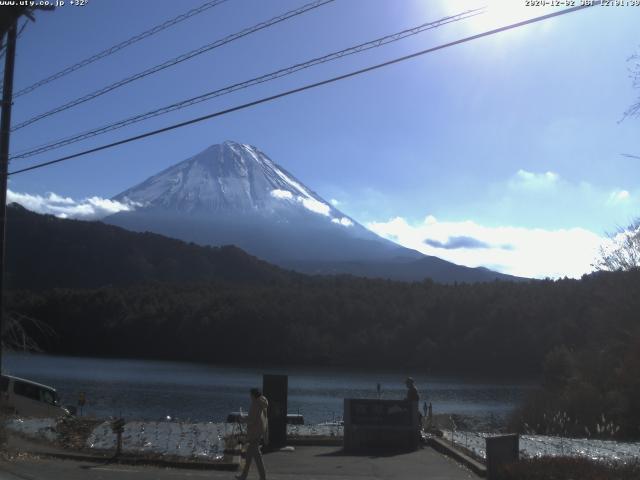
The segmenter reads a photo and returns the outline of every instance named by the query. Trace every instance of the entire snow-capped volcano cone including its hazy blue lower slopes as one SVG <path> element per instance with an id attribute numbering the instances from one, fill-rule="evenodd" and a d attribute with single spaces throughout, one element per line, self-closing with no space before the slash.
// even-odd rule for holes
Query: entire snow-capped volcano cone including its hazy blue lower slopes
<path id="1" fill-rule="evenodd" d="M 336 209 L 256 147 L 213 145 L 113 198 L 134 208 L 104 221 L 201 245 L 236 245 L 305 273 L 402 280 L 506 277 L 383 239 Z"/>

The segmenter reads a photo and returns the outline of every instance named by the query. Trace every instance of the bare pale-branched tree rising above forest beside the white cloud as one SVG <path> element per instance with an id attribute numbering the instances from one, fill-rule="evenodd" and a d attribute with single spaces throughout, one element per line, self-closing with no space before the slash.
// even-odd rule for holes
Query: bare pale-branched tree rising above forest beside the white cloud
<path id="1" fill-rule="evenodd" d="M 607 271 L 640 268 L 640 218 L 609 235 L 609 241 L 600 247 L 595 267 Z"/>

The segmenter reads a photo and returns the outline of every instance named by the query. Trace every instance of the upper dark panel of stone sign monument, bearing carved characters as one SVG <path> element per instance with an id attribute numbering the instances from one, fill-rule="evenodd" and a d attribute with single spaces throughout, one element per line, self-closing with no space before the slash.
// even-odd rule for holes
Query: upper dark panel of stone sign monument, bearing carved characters
<path id="1" fill-rule="evenodd" d="M 354 426 L 411 427 L 413 402 L 406 400 L 352 399 L 350 423 Z"/>

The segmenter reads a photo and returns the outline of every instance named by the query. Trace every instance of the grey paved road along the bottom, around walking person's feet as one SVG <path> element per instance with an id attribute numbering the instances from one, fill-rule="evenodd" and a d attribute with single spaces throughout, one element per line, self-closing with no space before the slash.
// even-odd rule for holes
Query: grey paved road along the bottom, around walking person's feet
<path id="1" fill-rule="evenodd" d="M 384 479 L 467 480 L 473 473 L 438 452 L 424 448 L 417 452 L 387 456 L 344 455 L 337 447 L 296 447 L 294 452 L 265 455 L 267 475 L 272 480 Z M 96 464 L 70 460 L 20 459 L 0 463 L 0 480 L 151 480 L 232 479 L 236 472 L 194 471 L 117 464 Z M 257 479 L 255 470 L 249 479 Z"/>

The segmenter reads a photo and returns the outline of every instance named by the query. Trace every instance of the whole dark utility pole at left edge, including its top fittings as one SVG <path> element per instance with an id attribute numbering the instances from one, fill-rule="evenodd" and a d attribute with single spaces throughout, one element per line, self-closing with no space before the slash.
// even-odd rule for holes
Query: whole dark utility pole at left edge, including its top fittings
<path id="1" fill-rule="evenodd" d="M 0 117 L 0 373 L 2 373 L 2 351 L 5 329 L 4 270 L 5 270 L 5 230 L 7 226 L 7 179 L 9 174 L 9 138 L 11 134 L 11 106 L 13 103 L 13 69 L 16 60 L 16 30 L 18 19 L 26 15 L 35 21 L 32 10 L 53 10 L 53 7 L 8 7 L 3 8 L 0 22 L 0 36 L 7 34 L 4 62 L 4 83 L 2 88 L 2 115 Z"/>

